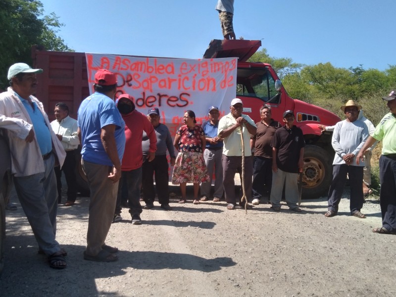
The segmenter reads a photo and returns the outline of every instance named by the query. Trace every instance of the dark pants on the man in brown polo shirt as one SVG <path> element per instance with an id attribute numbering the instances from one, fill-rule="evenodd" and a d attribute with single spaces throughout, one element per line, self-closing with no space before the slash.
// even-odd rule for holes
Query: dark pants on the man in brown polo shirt
<path id="1" fill-rule="evenodd" d="M 253 159 L 253 199 L 268 198 L 272 186 L 272 158 L 254 156 Z"/>

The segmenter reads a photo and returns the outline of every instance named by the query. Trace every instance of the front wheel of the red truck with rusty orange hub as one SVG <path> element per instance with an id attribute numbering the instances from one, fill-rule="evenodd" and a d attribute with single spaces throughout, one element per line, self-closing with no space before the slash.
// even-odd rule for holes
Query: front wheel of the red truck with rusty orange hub
<path id="1" fill-rule="evenodd" d="M 331 155 L 318 146 L 304 148 L 304 167 L 302 170 L 302 198 L 316 199 L 329 192 L 333 179 Z"/>

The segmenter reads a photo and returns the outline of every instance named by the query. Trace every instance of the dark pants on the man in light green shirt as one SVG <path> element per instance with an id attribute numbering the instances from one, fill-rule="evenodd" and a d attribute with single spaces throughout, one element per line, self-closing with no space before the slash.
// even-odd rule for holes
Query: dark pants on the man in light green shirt
<path id="1" fill-rule="evenodd" d="M 380 157 L 382 226 L 396 232 L 396 158 Z"/>

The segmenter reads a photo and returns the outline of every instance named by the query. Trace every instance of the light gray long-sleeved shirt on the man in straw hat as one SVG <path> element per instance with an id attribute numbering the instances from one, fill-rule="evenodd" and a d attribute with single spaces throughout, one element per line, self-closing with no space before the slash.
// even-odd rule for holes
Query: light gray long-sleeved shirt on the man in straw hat
<path id="1" fill-rule="evenodd" d="M 338 122 L 334 127 L 333 138 L 331 144 L 336 152 L 334 156 L 333 165 L 345 164 L 343 156 L 348 153 L 353 153 L 352 166 L 365 166 L 364 162 L 356 164 L 356 155 L 360 148 L 363 147 L 367 137 L 368 128 L 362 121 L 356 120 L 354 122 L 348 122 L 347 120 Z"/>

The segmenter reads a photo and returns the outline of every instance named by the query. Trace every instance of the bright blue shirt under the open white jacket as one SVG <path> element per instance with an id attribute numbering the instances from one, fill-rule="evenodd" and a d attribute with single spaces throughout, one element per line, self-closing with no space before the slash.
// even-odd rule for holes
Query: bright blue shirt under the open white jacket
<path id="1" fill-rule="evenodd" d="M 52 150 L 51 133 L 49 133 L 49 127 L 46 124 L 46 120 L 44 119 L 44 116 L 41 113 L 39 106 L 37 106 L 36 102 L 32 101 L 32 107 L 28 100 L 23 99 L 19 95 L 18 97 L 19 99 L 21 99 L 23 105 L 29 113 L 30 119 L 32 120 L 34 132 L 36 134 L 37 142 L 39 143 L 41 154 L 44 156 Z"/>

